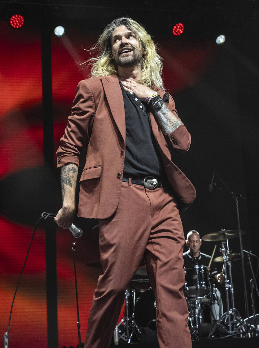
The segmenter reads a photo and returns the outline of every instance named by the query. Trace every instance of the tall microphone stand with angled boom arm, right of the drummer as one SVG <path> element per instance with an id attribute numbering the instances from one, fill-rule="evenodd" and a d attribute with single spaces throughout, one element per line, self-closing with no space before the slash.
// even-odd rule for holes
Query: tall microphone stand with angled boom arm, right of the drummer
<path id="1" fill-rule="evenodd" d="M 231 191 L 225 182 L 221 179 L 218 172 L 215 172 L 220 179 L 220 181 L 223 183 L 224 188 L 231 194 L 231 196 L 234 198 L 236 203 L 236 214 L 237 214 L 237 224 L 238 224 L 238 234 L 239 234 L 239 243 L 240 243 L 240 253 L 241 253 L 241 262 L 242 262 L 242 274 L 243 274 L 243 282 L 244 282 L 244 297 L 245 297 L 245 316 L 246 318 L 249 318 L 249 310 L 248 310 L 248 297 L 247 297 L 247 290 L 246 290 L 246 280 L 245 280 L 245 267 L 244 267 L 244 252 L 243 252 L 243 240 L 241 235 L 241 227 L 240 227 L 240 217 L 239 217 L 239 207 L 238 207 L 238 198 L 246 199 L 246 197 L 237 195 L 235 192 Z M 217 184 L 214 183 L 214 186 Z M 219 186 L 219 188 L 222 189 L 222 187 Z"/>

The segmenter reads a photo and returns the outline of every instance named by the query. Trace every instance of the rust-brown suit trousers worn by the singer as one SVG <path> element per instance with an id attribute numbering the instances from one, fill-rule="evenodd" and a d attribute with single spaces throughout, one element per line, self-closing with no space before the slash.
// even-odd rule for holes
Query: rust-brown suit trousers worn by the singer
<path id="1" fill-rule="evenodd" d="M 183 294 L 184 234 L 168 188 L 122 183 L 116 212 L 99 221 L 104 274 L 94 293 L 84 348 L 108 348 L 124 294 L 144 255 L 155 293 L 160 348 L 191 348 Z"/>

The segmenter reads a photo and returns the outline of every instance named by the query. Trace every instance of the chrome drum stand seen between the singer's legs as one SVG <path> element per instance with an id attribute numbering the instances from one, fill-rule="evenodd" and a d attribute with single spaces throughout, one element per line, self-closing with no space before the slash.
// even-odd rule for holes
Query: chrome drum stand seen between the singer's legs
<path id="1" fill-rule="evenodd" d="M 139 330 L 136 322 L 135 322 L 135 317 L 134 317 L 134 312 L 132 313 L 132 316 L 130 316 L 130 311 L 129 311 L 129 298 L 130 298 L 131 293 L 129 290 L 126 290 L 125 293 L 125 310 L 124 310 L 124 318 L 121 319 L 120 323 L 116 326 L 115 331 L 114 331 L 114 337 L 118 335 L 118 330 L 119 326 L 124 322 L 124 332 L 122 335 L 120 335 L 120 338 L 123 341 L 127 341 L 127 343 L 132 343 L 132 337 L 133 334 L 135 334 L 136 338 L 138 341 L 141 339 L 142 332 Z M 134 301 L 134 306 L 135 308 L 135 291 L 133 291 L 133 301 Z M 115 335 L 116 333 L 116 335 Z M 117 339 L 116 339 L 117 340 Z M 115 340 L 114 340 L 115 343 Z M 117 344 L 116 342 L 115 344 Z"/>

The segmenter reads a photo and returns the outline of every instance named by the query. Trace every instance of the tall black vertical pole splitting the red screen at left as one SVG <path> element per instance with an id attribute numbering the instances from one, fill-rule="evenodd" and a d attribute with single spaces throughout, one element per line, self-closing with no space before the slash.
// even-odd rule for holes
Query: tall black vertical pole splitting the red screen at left
<path id="1" fill-rule="evenodd" d="M 47 26 L 43 26 L 41 32 L 41 57 L 44 167 L 50 173 L 54 173 L 51 36 Z M 47 181 L 45 182 L 47 184 Z M 54 221 L 46 221 L 45 233 L 48 348 L 58 348 L 56 224 Z"/>

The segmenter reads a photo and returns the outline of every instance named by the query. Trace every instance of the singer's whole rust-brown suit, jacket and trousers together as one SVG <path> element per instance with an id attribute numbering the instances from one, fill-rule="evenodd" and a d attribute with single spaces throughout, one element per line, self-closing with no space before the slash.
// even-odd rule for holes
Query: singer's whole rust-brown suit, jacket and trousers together
<path id="1" fill-rule="evenodd" d="M 166 105 L 177 116 L 169 97 Z M 125 290 L 143 255 L 156 296 L 160 348 L 191 347 L 183 296 L 184 235 L 173 195 L 184 207 L 195 199 L 195 189 L 172 161 L 188 150 L 191 137 L 184 125 L 165 136 L 152 113 L 150 118 L 170 188 L 151 191 L 122 182 L 126 127 L 116 76 L 79 83 L 57 151 L 60 167 L 78 164 L 80 150 L 87 148 L 78 215 L 99 219 L 104 274 L 94 293 L 84 348 L 110 345 Z"/>

